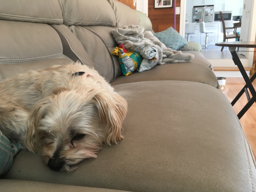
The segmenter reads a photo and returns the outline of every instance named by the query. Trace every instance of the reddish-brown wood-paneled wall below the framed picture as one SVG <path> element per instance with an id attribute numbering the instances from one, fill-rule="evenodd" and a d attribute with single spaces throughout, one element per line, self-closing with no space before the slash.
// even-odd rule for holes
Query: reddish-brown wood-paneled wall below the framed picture
<path id="1" fill-rule="evenodd" d="M 174 28 L 174 0 L 172 8 L 154 8 L 155 0 L 148 0 L 148 17 L 152 22 L 154 32 Z M 180 0 L 176 0 L 176 7 L 180 7 Z M 176 31 L 180 32 L 180 15 L 176 15 Z"/>

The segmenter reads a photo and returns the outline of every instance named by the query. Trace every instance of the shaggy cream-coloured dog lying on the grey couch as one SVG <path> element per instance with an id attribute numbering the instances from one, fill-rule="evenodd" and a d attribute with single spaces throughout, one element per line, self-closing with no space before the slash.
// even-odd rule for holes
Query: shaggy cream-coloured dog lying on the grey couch
<path id="1" fill-rule="evenodd" d="M 2 133 L 39 152 L 52 170 L 73 171 L 103 143 L 123 138 L 126 100 L 79 62 L 7 78 L 0 95 Z"/>

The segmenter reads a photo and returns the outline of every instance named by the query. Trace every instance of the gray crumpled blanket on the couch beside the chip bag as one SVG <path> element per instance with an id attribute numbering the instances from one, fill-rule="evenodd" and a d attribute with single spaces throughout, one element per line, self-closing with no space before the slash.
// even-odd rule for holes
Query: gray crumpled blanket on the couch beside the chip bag
<path id="1" fill-rule="evenodd" d="M 188 62 L 194 58 L 193 54 L 167 48 L 165 44 L 153 35 L 151 31 L 144 31 L 143 27 L 137 25 L 123 26 L 111 31 L 118 44 L 124 44 L 126 49 L 139 52 L 142 56 L 148 46 L 155 47 L 159 54 L 157 64 Z"/>

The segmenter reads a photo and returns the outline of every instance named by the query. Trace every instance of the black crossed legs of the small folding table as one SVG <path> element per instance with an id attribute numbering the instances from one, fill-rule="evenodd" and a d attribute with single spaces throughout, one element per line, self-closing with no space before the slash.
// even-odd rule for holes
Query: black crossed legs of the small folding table
<path id="1" fill-rule="evenodd" d="M 250 90 L 250 92 L 252 93 L 252 98 L 251 98 L 250 100 L 248 100 L 248 103 L 244 106 L 244 108 L 243 108 L 243 109 L 238 113 L 238 115 L 237 115 L 238 118 L 240 119 L 240 118 L 244 115 L 244 113 L 252 106 L 252 104 L 253 104 L 254 102 L 256 102 L 256 92 L 255 92 L 255 89 L 254 89 L 254 87 L 253 87 L 253 85 L 252 85 L 252 82 L 253 82 L 253 80 L 256 78 L 256 75 L 254 74 L 251 79 L 247 76 L 246 71 L 245 71 L 245 69 L 244 69 L 244 67 L 243 67 L 243 65 L 242 65 L 242 63 L 241 63 L 241 61 L 240 61 L 238 55 L 236 54 L 236 51 L 235 51 L 235 50 L 236 50 L 235 47 L 229 47 L 229 51 L 230 51 L 230 53 L 231 53 L 231 55 L 232 55 L 232 59 L 233 59 L 235 65 L 237 65 L 239 71 L 241 72 L 241 74 L 242 74 L 242 76 L 243 76 L 243 78 L 244 78 L 244 81 L 245 81 L 245 86 L 244 86 L 244 88 L 247 88 L 247 87 L 248 87 L 249 90 Z M 232 106 L 234 106 L 234 104 L 236 103 L 236 101 L 237 101 L 237 100 L 242 96 L 242 94 L 245 92 L 245 91 L 244 91 L 244 90 L 245 90 L 244 88 L 237 94 L 237 96 L 235 97 L 235 99 L 231 102 Z"/>

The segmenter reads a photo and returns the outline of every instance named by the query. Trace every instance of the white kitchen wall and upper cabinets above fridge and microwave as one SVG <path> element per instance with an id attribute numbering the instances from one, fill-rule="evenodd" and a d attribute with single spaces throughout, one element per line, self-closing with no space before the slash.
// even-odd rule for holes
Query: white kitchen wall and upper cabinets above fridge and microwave
<path id="1" fill-rule="evenodd" d="M 242 15 L 243 0 L 187 0 L 186 20 L 192 21 L 193 6 L 214 5 L 214 12 L 232 11 L 232 16 Z"/>

